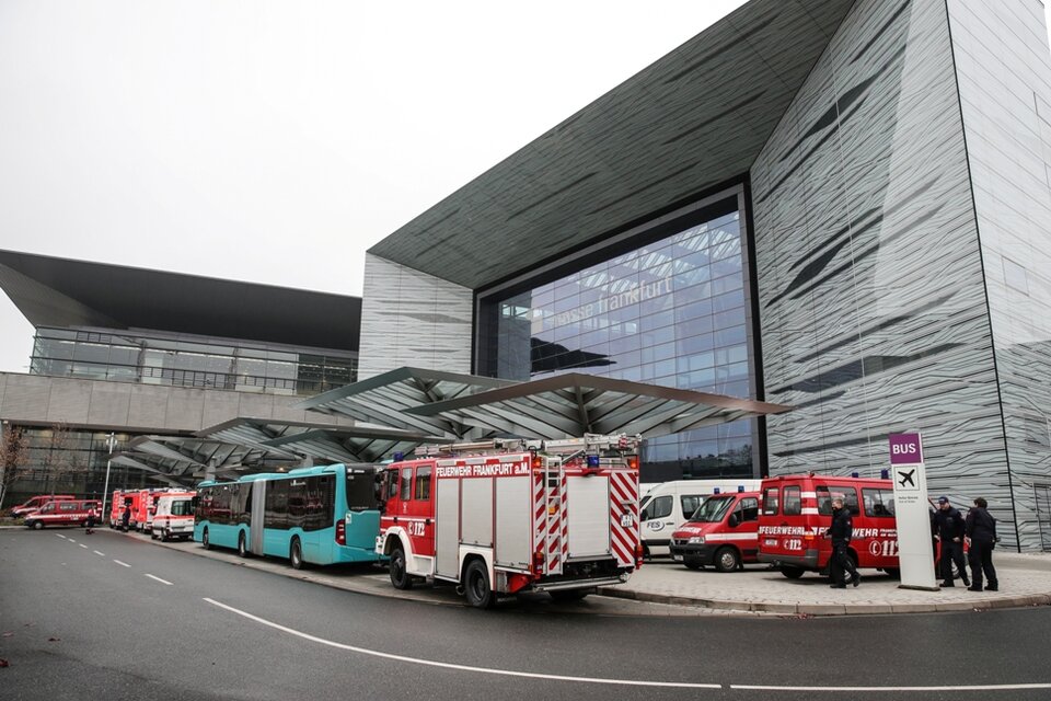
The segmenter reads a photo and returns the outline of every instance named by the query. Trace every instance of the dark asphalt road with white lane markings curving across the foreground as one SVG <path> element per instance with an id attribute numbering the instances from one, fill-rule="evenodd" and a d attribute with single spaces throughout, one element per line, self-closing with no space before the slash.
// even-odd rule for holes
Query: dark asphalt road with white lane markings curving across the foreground
<path id="1" fill-rule="evenodd" d="M 371 597 L 106 530 L 7 530 L 0 698 L 1051 697 L 1048 607 L 835 619 L 555 610 Z M 1026 683 L 1043 686 L 988 688 Z M 778 689 L 742 688 L 755 685 Z"/>

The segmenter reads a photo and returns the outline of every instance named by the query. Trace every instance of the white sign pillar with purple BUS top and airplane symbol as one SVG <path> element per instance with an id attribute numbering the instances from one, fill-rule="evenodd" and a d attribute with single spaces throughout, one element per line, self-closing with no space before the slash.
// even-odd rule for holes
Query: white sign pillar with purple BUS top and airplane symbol
<path id="1" fill-rule="evenodd" d="M 890 434 L 890 476 L 894 486 L 898 562 L 902 589 L 937 591 L 931 545 L 931 506 L 919 433 Z"/>

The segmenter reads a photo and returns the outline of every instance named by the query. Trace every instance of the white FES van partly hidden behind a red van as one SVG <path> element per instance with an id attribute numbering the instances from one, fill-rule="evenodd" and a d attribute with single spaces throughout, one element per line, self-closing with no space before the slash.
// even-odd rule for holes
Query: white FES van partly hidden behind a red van
<path id="1" fill-rule="evenodd" d="M 677 480 L 655 484 L 639 503 L 643 550 L 647 558 L 671 554 L 671 535 L 704 497 L 727 492 L 757 492 L 762 480 Z"/>

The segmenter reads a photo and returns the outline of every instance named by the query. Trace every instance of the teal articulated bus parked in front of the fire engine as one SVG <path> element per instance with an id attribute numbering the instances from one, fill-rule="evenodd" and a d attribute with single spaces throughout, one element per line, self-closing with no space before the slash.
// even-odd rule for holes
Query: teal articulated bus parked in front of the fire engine
<path id="1" fill-rule="evenodd" d="M 299 570 L 379 560 L 379 532 L 372 466 L 300 468 L 197 487 L 194 540 L 206 549 L 287 558 Z"/>

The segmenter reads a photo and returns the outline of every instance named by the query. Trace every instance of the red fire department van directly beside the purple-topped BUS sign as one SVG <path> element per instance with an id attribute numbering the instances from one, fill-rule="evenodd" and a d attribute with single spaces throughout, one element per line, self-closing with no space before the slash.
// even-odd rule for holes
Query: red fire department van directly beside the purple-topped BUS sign
<path id="1" fill-rule="evenodd" d="M 786 577 L 806 571 L 828 572 L 832 541 L 832 498 L 851 510 L 854 535 L 850 554 L 858 567 L 897 573 L 898 524 L 890 480 L 820 474 L 763 480 L 759 515 L 759 561 L 777 565 Z"/>

